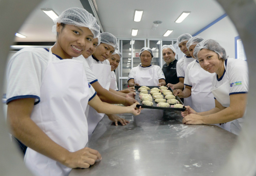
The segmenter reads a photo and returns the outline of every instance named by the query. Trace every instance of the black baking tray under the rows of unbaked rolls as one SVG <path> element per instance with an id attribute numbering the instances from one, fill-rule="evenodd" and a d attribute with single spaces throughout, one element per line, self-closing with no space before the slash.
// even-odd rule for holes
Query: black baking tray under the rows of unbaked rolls
<path id="1" fill-rule="evenodd" d="M 145 86 L 149 87 L 149 89 L 152 89 L 152 88 L 154 88 L 154 87 L 158 87 L 158 88 L 159 88 L 159 86 L 148 86 L 148 85 L 145 85 Z M 185 111 L 185 110 L 187 109 L 187 108 L 163 108 L 163 107 L 157 107 L 157 106 L 156 106 L 157 103 L 155 102 L 154 98 L 153 98 L 153 106 L 146 106 L 146 105 L 142 104 L 142 101 L 140 101 L 140 96 L 139 96 L 140 92 L 138 91 L 138 89 L 139 89 L 141 86 L 135 85 L 134 87 L 135 87 L 135 92 L 136 92 L 135 99 L 138 101 L 138 103 L 140 103 L 140 104 L 137 104 L 137 105 L 136 105 L 137 108 L 139 108 L 139 107 L 141 106 L 141 108 L 147 108 L 147 109 L 163 109 L 163 110 L 168 110 L 168 111 Z M 173 92 L 173 90 L 172 90 L 170 87 L 168 87 L 168 89 L 169 89 L 171 92 Z M 150 92 L 150 90 L 148 90 L 148 94 L 150 94 L 149 92 Z M 164 96 L 163 93 L 162 93 L 162 95 Z M 180 102 L 180 104 L 183 104 L 183 102 L 180 100 L 180 98 L 179 98 L 178 96 L 176 96 L 176 99 Z M 183 104 L 183 105 L 184 105 L 184 104 Z"/>

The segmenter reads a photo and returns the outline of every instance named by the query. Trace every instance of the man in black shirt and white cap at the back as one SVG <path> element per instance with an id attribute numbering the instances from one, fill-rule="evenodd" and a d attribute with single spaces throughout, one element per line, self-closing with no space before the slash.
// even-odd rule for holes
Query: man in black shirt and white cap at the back
<path id="1" fill-rule="evenodd" d="M 162 68 L 164 72 L 165 82 L 166 84 L 168 83 L 177 84 L 180 81 L 177 77 L 177 72 L 176 72 L 176 63 L 177 63 L 177 60 L 175 59 L 176 51 L 174 47 L 170 44 L 170 45 L 163 45 L 162 53 L 163 53 L 164 62 L 166 62 Z"/>

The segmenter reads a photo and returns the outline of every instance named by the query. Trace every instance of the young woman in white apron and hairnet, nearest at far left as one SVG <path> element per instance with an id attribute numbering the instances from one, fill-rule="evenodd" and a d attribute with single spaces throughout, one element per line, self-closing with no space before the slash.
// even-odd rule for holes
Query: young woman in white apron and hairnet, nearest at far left
<path id="1" fill-rule="evenodd" d="M 68 175 L 71 168 L 87 168 L 101 159 L 97 150 L 84 148 L 87 104 L 104 113 L 140 113 L 136 105 L 120 109 L 102 103 L 87 82 L 83 62 L 72 60 L 99 35 L 92 14 L 70 8 L 54 22 L 57 41 L 52 48 L 24 48 L 7 67 L 7 120 L 12 134 L 28 146 L 26 166 L 42 176 Z"/>

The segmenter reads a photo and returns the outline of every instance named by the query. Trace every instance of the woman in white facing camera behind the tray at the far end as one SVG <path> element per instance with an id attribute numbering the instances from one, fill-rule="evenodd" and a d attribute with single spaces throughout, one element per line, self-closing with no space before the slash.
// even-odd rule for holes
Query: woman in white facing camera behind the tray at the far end
<path id="1" fill-rule="evenodd" d="M 131 68 L 128 75 L 128 86 L 149 85 L 162 86 L 166 85 L 164 73 L 161 67 L 151 65 L 153 52 L 150 48 L 144 47 L 139 53 L 141 65 Z"/>

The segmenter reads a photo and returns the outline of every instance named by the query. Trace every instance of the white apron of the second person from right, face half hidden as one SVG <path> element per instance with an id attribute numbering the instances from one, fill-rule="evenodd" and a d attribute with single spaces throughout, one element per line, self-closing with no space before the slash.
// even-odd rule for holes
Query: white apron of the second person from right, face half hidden
<path id="1" fill-rule="evenodd" d="M 214 96 L 211 93 L 213 74 L 202 69 L 199 63 L 196 62 L 195 64 L 198 64 L 198 67 L 189 71 L 189 80 L 192 82 L 192 108 L 199 113 L 209 111 L 215 107 Z"/>

